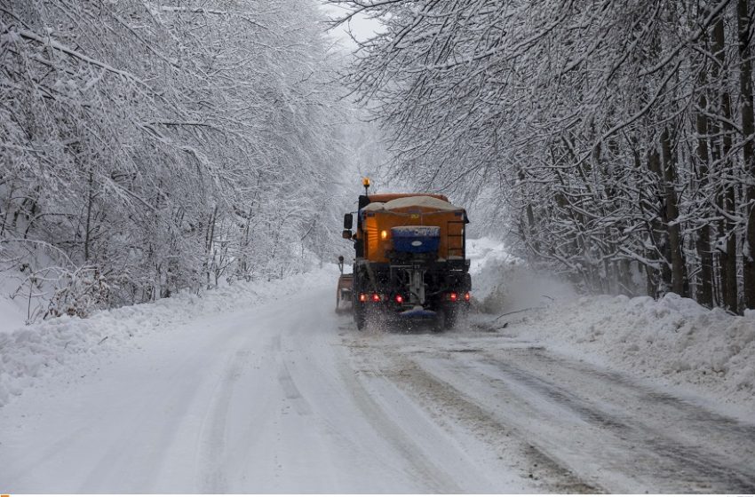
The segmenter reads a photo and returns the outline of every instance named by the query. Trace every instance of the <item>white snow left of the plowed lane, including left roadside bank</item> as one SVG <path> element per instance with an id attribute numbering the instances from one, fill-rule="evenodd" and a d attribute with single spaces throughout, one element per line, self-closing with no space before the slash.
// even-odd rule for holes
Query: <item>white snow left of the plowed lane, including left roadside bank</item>
<path id="1" fill-rule="evenodd" d="M 389 381 L 382 354 L 354 364 L 350 351 L 369 349 L 333 310 L 337 275 L 328 267 L 12 334 L 2 344 L 13 397 L 0 408 L 4 488 L 535 492 Z"/>

